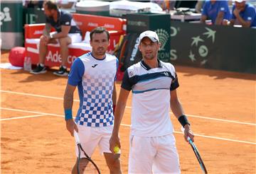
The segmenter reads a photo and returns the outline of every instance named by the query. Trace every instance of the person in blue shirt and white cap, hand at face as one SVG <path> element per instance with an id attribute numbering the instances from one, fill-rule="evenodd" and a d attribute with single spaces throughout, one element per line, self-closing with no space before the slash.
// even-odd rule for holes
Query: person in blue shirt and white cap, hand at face
<path id="1" fill-rule="evenodd" d="M 229 25 L 242 25 L 242 27 L 256 27 L 256 11 L 252 4 L 243 0 L 236 0 L 232 9 Z"/>

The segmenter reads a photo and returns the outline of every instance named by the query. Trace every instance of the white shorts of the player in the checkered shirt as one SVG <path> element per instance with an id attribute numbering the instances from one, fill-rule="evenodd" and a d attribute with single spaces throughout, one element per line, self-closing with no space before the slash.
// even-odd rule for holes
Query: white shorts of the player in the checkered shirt
<path id="1" fill-rule="evenodd" d="M 112 135 L 113 126 L 108 127 L 85 127 L 78 126 L 78 136 L 82 149 L 88 156 L 92 156 L 96 147 L 99 146 L 100 153 L 112 153 L 110 151 L 110 137 Z M 75 154 L 78 156 L 78 146 L 75 144 Z M 81 152 L 81 158 L 85 155 Z"/>

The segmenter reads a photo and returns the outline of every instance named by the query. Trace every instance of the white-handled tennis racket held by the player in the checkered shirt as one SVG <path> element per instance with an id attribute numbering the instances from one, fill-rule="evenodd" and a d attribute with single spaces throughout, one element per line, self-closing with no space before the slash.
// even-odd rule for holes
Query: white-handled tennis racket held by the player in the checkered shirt
<path id="1" fill-rule="evenodd" d="M 77 146 L 78 146 L 78 166 L 77 166 L 78 174 L 82 174 L 82 173 L 100 174 L 100 170 L 97 167 L 97 165 L 95 164 L 95 162 L 93 162 L 92 159 L 90 158 L 90 156 L 88 156 L 87 153 L 85 153 L 84 149 L 82 149 L 82 146 L 80 144 L 80 139 L 78 137 L 78 132 L 76 132 L 75 130 L 74 130 L 74 137 L 75 137 L 75 144 L 77 144 Z M 86 162 L 82 163 L 82 164 L 80 164 L 81 151 L 85 154 L 85 159 L 86 159 Z M 86 166 L 85 170 L 83 170 L 83 171 L 80 170 L 80 168 L 79 168 L 80 165 Z"/>

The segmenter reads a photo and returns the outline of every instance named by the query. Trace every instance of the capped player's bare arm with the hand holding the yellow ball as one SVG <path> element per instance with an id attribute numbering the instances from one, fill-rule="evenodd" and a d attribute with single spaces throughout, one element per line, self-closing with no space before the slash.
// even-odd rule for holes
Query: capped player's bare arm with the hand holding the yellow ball
<path id="1" fill-rule="evenodd" d="M 127 103 L 128 96 L 129 91 L 125 90 L 124 88 L 121 88 L 119 98 L 117 101 L 117 108 L 114 112 L 114 129 L 112 132 L 112 136 L 110 138 L 110 151 L 112 151 L 112 153 L 114 153 L 114 146 L 118 146 L 119 149 L 121 149 L 118 132 L 122 121 L 122 117 L 124 115 L 124 109 Z"/>

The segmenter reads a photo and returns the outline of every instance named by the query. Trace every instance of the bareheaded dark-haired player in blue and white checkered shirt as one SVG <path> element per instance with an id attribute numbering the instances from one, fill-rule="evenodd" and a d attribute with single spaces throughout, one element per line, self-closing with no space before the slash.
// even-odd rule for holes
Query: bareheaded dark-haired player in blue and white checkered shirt
<path id="1" fill-rule="evenodd" d="M 105 28 L 98 27 L 90 33 L 92 52 L 75 59 L 68 75 L 68 84 L 64 95 L 66 127 L 73 136 L 78 132 L 80 142 L 88 156 L 99 146 L 104 153 L 110 173 L 121 173 L 119 153 L 110 151 L 109 140 L 114 123 L 114 104 L 116 103 L 115 79 L 118 59 L 106 54 L 110 45 L 110 34 Z M 75 117 L 72 116 L 73 93 L 78 86 L 80 108 Z M 76 146 L 78 156 L 78 148 Z M 85 156 L 82 156 L 85 157 Z M 77 162 L 72 173 L 78 173 Z M 80 160 L 80 170 L 86 167 L 86 160 Z"/>

